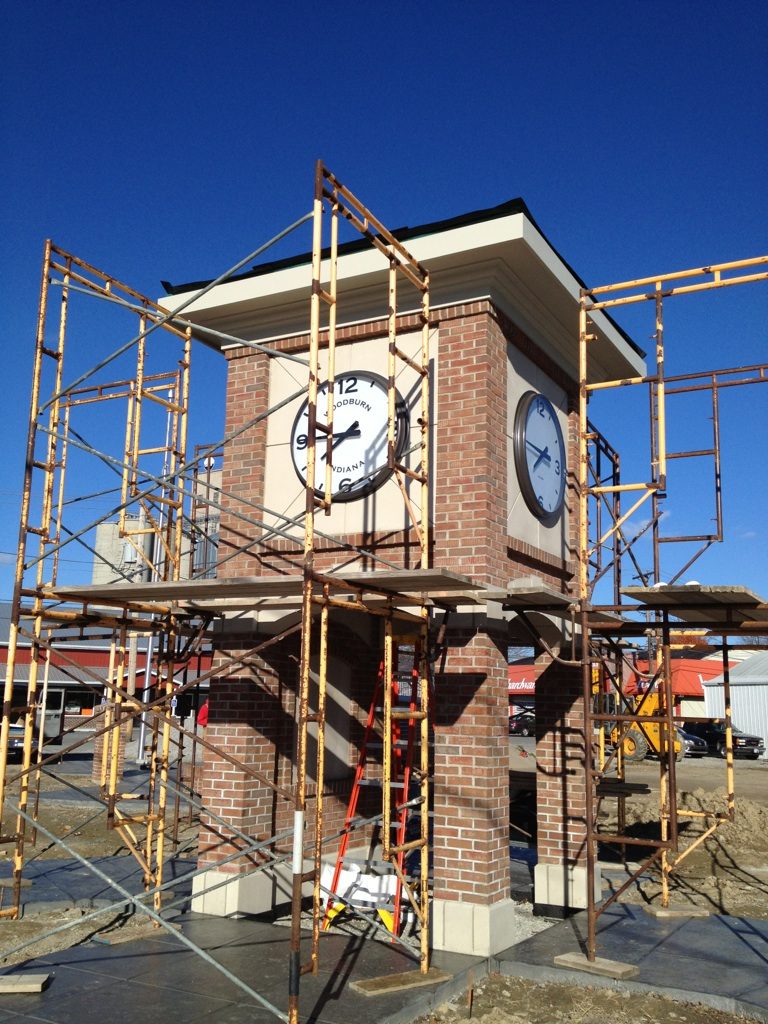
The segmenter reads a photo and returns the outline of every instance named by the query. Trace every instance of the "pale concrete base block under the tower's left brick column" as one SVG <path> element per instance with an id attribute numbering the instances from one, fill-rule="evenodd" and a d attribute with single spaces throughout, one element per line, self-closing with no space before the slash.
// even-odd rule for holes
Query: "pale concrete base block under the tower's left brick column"
<path id="1" fill-rule="evenodd" d="M 204 892 L 219 885 L 213 892 Z M 292 874 L 290 866 L 279 864 L 256 874 L 234 874 L 211 868 L 193 881 L 191 908 L 198 913 L 216 918 L 230 918 L 239 913 L 266 913 L 291 902 Z M 302 888 L 304 896 L 311 895 L 311 883 Z"/>

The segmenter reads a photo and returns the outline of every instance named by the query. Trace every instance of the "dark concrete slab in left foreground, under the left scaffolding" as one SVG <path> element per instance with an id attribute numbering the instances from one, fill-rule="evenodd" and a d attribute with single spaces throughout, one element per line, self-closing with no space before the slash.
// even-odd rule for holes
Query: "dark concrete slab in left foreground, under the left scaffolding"
<path id="1" fill-rule="evenodd" d="M 227 921 L 187 915 L 182 932 L 197 945 L 246 981 L 282 1014 L 288 1005 L 290 930 L 260 921 Z M 304 942 L 308 957 L 308 941 Z M 479 980 L 487 962 L 437 954 L 433 966 L 452 981 L 367 996 L 350 982 L 414 971 L 415 962 L 398 947 L 361 937 L 333 933 L 321 938 L 316 976 L 301 979 L 301 1020 L 316 1024 L 381 1024 L 412 1021 L 421 1008 L 444 1001 L 466 985 L 474 968 Z M 88 944 L 28 962 L 7 973 L 49 972 L 48 988 L 39 994 L 0 995 L 0 1024 L 5 1021 L 83 1024 L 266 1024 L 278 1018 L 248 998 L 216 968 L 180 944 L 178 938 L 156 936 L 117 946 Z"/>

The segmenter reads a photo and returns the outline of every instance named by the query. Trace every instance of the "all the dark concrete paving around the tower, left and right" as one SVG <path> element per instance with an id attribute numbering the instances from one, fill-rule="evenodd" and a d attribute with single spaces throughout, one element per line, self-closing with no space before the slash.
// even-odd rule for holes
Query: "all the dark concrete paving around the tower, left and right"
<path id="1" fill-rule="evenodd" d="M 131 891 L 131 858 L 103 863 Z M 178 877 L 186 865 L 177 864 Z M 111 898 L 82 865 L 42 861 L 25 899 Z M 124 872 L 124 873 L 122 873 Z M 174 885 L 183 891 L 179 878 Z M 263 920 L 223 920 L 185 913 L 176 919 L 184 936 L 205 949 L 285 1014 L 288 1004 L 289 930 Z M 629 982 L 614 982 L 556 968 L 554 956 L 583 949 L 584 914 L 560 922 L 489 958 L 436 953 L 432 965 L 450 980 L 427 987 L 367 996 L 351 983 L 415 972 L 400 947 L 331 931 L 321 938 L 316 976 L 301 980 L 301 1020 L 312 1024 L 407 1024 L 447 1001 L 488 972 L 541 982 L 652 991 L 717 1009 L 745 1011 L 768 1022 L 768 922 L 744 918 L 657 920 L 636 905 L 610 907 L 598 922 L 598 954 L 636 965 Z M 308 947 L 308 941 L 305 941 Z M 307 951 L 304 956 L 306 958 Z M 7 974 L 50 973 L 39 994 L 0 995 L 0 1024 L 265 1024 L 280 1019 L 255 1002 L 215 966 L 182 945 L 178 936 L 151 937 L 115 946 L 87 943 L 28 962 Z"/>

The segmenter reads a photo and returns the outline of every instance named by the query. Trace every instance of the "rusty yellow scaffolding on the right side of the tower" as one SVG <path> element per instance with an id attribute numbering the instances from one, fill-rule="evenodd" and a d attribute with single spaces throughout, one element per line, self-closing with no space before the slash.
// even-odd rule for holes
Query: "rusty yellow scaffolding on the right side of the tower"
<path id="1" fill-rule="evenodd" d="M 754 284 L 768 280 L 768 257 L 699 267 L 671 274 L 638 279 L 598 288 L 584 288 L 580 304 L 580 401 L 579 401 L 579 591 L 581 664 L 585 707 L 586 763 L 586 860 L 588 899 L 587 956 L 594 961 L 597 921 L 652 864 L 657 864 L 662 883 L 662 905 L 670 905 L 671 877 L 690 853 L 735 814 L 733 740 L 729 685 L 729 638 L 768 634 L 768 606 L 741 587 L 680 585 L 694 562 L 724 538 L 721 482 L 720 392 L 724 388 L 765 383 L 768 366 L 758 364 L 724 370 L 668 375 L 665 371 L 665 308 L 673 297 Z M 598 310 L 650 302 L 654 311 L 652 373 L 599 383 L 589 379 L 589 347 L 593 338 L 592 317 Z M 589 399 L 598 392 L 617 388 L 643 388 L 649 409 L 649 471 L 642 480 L 623 479 L 618 453 L 595 429 L 588 417 Z M 702 446 L 686 451 L 668 450 L 668 407 L 675 395 L 709 394 L 712 437 Z M 710 460 L 712 467 L 714 529 L 679 535 L 664 534 L 663 506 L 668 490 L 668 465 L 672 460 Z M 629 507 L 622 501 L 628 499 Z M 646 503 L 647 522 L 634 534 L 631 517 Z M 641 567 L 636 551 L 638 540 L 649 534 L 652 567 Z M 669 559 L 663 565 L 666 545 L 696 545 L 693 554 L 671 571 Z M 687 550 L 687 549 L 686 549 Z M 632 566 L 640 586 L 628 587 L 623 565 Z M 664 574 L 663 574 L 664 569 Z M 596 589 L 612 583 L 612 600 L 596 600 Z M 663 582 L 664 581 L 664 582 Z M 723 681 L 726 725 L 726 799 L 701 810 L 678 805 L 676 784 L 676 728 L 671 671 L 671 644 L 675 629 L 700 629 L 709 636 L 722 637 Z M 628 641 L 645 642 L 649 648 L 647 672 L 638 673 L 628 657 Z M 652 656 L 651 656 L 652 648 Z M 633 698 L 626 693 L 628 671 L 643 679 L 644 692 Z M 612 696 L 607 708 L 606 694 Z M 651 703 L 650 701 L 653 701 Z M 648 709 L 652 709 L 652 714 Z M 626 781 L 623 743 L 636 730 L 658 746 L 658 839 L 640 839 L 626 828 L 626 803 L 637 785 Z M 613 742 L 609 741 L 612 733 Z M 617 801 L 613 829 L 598 825 L 601 802 Z M 702 833 L 686 843 L 681 819 L 699 818 Z M 651 852 L 639 866 L 627 867 L 626 881 L 598 903 L 595 898 L 598 846 L 614 846 L 627 862 L 627 851 L 640 848 Z"/>

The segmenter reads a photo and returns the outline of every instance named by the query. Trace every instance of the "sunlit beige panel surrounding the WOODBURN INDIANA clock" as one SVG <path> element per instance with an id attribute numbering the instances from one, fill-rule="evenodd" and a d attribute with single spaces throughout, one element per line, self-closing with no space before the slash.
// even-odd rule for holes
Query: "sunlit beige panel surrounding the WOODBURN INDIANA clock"
<path id="1" fill-rule="evenodd" d="M 437 330 L 430 335 L 430 359 L 434 366 L 437 357 Z M 372 338 L 365 341 L 352 341 L 339 344 L 336 348 L 336 375 L 353 370 L 366 370 L 371 373 L 387 376 L 387 345 L 386 338 Z M 398 347 L 417 362 L 421 360 L 421 332 L 414 331 L 398 335 Z M 328 351 L 321 351 L 319 379 L 325 380 L 328 374 Z M 269 367 L 269 406 L 299 391 L 306 384 L 305 368 L 286 359 L 272 359 Z M 434 382 L 435 374 L 431 379 Z M 409 446 L 418 444 L 420 427 L 418 418 L 421 415 L 421 385 L 419 375 L 407 364 L 398 360 L 397 389 L 406 400 L 410 411 Z M 434 385 L 433 385 L 434 389 Z M 269 416 L 266 440 L 266 478 L 264 483 L 264 505 L 280 515 L 267 514 L 266 521 L 279 524 L 289 530 L 292 537 L 302 540 L 304 537 L 303 512 L 305 507 L 305 490 L 294 469 L 291 458 L 291 431 L 294 420 L 304 401 L 300 396 L 289 402 L 283 409 Z M 436 396 L 433 394 L 433 404 L 436 408 Z M 404 463 L 416 469 L 419 463 L 418 450 L 404 459 Z M 420 509 L 420 485 L 408 481 L 409 498 L 416 514 Z M 297 518 L 298 525 L 286 526 L 287 519 Z M 334 505 L 330 516 L 321 513 L 315 520 L 317 529 L 324 534 L 338 536 L 342 534 L 366 534 L 380 530 L 399 530 L 410 525 L 397 483 L 387 480 L 378 490 L 366 498 L 352 502 L 339 502 Z"/>

